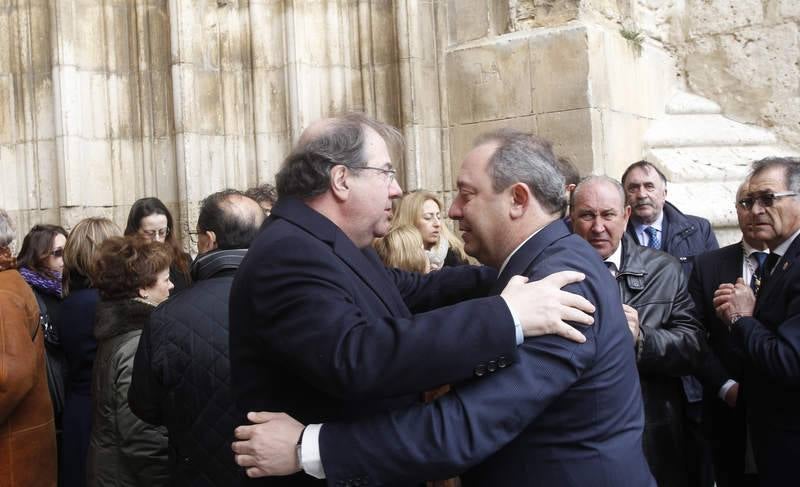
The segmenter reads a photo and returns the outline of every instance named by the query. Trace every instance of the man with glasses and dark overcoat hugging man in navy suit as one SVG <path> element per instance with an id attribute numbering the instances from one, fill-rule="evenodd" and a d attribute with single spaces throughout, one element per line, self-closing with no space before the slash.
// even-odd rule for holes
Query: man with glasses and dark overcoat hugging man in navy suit
<path id="1" fill-rule="evenodd" d="M 494 269 L 423 276 L 385 268 L 370 244 L 389 229 L 402 193 L 387 145 L 399 134 L 360 114 L 310 132 L 278 173 L 278 203 L 231 288 L 231 380 L 242 422 L 265 410 L 351 421 L 415 404 L 441 384 L 487 379 L 515 360 L 523 334 L 561 330 L 585 340 L 562 319 L 591 317 L 559 302 L 593 307 L 559 285 L 514 279 L 486 297 Z M 540 294 L 548 289 L 553 300 Z M 304 443 L 317 433 L 310 427 Z M 306 475 L 254 482 L 321 483 Z"/>

